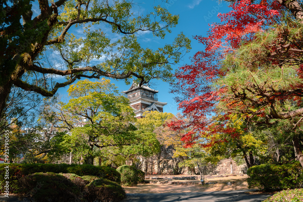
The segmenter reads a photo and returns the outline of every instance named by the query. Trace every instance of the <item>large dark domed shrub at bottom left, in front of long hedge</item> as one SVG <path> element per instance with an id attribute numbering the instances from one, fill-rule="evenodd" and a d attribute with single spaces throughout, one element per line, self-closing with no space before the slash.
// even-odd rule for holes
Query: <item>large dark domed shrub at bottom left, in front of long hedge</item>
<path id="1" fill-rule="evenodd" d="M 37 202 L 84 201 L 81 191 L 66 177 L 55 173 L 34 173 L 19 180 L 19 194 L 33 197 Z"/>

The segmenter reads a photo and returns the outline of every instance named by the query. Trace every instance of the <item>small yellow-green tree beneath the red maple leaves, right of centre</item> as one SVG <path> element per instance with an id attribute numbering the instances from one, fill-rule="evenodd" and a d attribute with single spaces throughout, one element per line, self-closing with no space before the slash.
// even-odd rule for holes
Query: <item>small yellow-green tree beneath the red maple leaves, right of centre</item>
<path id="1" fill-rule="evenodd" d="M 247 167 L 255 165 L 255 157 L 264 157 L 267 152 L 267 140 L 258 136 L 247 122 L 236 114 L 228 116 L 228 122 L 218 120 L 210 124 L 202 133 L 204 147 L 209 147 L 212 155 L 220 159 L 242 157 Z"/>

